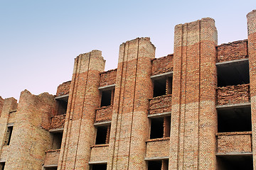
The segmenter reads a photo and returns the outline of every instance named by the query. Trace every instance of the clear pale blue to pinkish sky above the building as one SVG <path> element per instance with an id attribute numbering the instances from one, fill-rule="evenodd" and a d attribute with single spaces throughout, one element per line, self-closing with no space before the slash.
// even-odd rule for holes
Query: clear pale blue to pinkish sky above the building
<path id="1" fill-rule="evenodd" d="M 171 54 L 174 26 L 204 17 L 215 19 L 218 44 L 244 40 L 252 9 L 255 0 L 0 0 L 0 96 L 55 94 L 74 58 L 91 50 L 115 69 L 119 45 L 137 37 L 151 38 L 156 57 Z"/>

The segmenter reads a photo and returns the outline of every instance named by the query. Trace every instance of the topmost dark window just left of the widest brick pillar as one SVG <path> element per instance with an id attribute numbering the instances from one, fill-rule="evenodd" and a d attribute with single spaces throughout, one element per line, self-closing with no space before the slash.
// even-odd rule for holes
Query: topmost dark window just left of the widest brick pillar
<path id="1" fill-rule="evenodd" d="M 154 79 L 154 95 L 153 97 L 171 94 L 172 92 L 172 77 L 162 77 Z"/>

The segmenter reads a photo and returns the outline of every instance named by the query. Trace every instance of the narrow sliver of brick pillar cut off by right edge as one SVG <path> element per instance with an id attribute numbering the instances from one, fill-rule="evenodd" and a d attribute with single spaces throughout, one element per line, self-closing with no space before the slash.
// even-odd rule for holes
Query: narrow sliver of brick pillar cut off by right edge
<path id="1" fill-rule="evenodd" d="M 256 10 L 247 14 L 253 166 L 256 168 Z"/>

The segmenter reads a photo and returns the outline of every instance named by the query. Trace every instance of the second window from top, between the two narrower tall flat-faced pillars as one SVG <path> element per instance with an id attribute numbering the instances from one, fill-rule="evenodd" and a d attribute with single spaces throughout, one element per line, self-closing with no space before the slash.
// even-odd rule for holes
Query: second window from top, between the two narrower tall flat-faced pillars
<path id="1" fill-rule="evenodd" d="M 96 135 L 96 145 L 108 144 L 110 142 L 110 125 L 98 126 Z"/>

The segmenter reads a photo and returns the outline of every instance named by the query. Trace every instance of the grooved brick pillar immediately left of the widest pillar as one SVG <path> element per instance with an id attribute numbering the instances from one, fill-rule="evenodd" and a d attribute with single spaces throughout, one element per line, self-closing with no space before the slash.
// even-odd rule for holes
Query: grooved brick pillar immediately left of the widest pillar
<path id="1" fill-rule="evenodd" d="M 107 169 L 146 169 L 147 109 L 152 96 L 149 38 L 130 40 L 119 49 Z"/>

